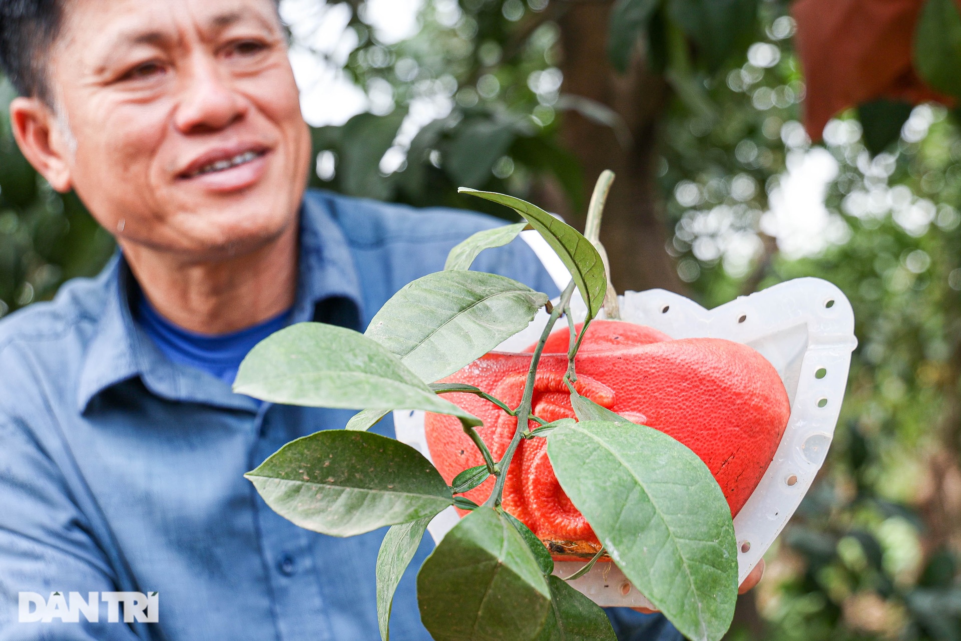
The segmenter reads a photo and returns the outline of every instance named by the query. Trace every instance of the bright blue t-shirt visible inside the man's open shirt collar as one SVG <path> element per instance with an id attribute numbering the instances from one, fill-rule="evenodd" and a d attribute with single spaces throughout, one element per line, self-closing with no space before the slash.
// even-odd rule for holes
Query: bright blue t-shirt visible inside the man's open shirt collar
<path id="1" fill-rule="evenodd" d="M 138 292 L 135 317 L 140 328 L 165 357 L 175 363 L 196 367 L 232 385 L 240 361 L 247 353 L 261 340 L 290 324 L 290 309 L 239 332 L 195 333 L 164 318 L 147 297 Z"/>

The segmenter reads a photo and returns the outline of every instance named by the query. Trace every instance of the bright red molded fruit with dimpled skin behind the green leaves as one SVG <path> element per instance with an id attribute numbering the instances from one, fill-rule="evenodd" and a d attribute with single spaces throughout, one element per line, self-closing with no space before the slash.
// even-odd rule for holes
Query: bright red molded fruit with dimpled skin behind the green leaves
<path id="1" fill-rule="evenodd" d="M 566 352 L 567 340 L 565 328 L 546 345 Z M 494 352 L 444 381 L 477 385 L 517 407 L 529 366 L 528 353 Z M 542 355 L 532 407 L 544 420 L 574 416 L 563 383 L 566 369 L 566 355 Z M 771 363 L 751 347 L 728 340 L 671 340 L 652 328 L 594 321 L 580 347 L 577 371 L 581 395 L 670 434 L 700 456 L 735 516 L 774 458 L 790 415 L 787 392 Z M 480 436 L 499 460 L 516 419 L 477 396 L 445 397 L 483 421 Z M 531 421 L 530 427 L 536 424 Z M 446 481 L 483 463 L 455 418 L 428 413 L 425 430 L 431 457 Z M 465 496 L 480 504 L 493 484 L 488 479 Z M 545 541 L 571 542 L 572 548 L 586 544 L 579 548 L 582 554 L 599 545 L 554 478 L 545 439 L 521 442 L 505 482 L 504 506 Z M 552 552 L 561 553 L 554 545 Z"/>

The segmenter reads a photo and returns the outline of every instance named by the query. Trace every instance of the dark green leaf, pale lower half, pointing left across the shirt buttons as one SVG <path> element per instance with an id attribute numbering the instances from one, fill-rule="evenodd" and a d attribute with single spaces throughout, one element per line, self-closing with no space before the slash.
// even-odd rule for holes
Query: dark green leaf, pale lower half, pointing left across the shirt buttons
<path id="1" fill-rule="evenodd" d="M 298 438 L 244 476 L 283 518 L 331 536 L 433 516 L 454 503 L 431 461 L 367 431 L 325 430 Z"/>

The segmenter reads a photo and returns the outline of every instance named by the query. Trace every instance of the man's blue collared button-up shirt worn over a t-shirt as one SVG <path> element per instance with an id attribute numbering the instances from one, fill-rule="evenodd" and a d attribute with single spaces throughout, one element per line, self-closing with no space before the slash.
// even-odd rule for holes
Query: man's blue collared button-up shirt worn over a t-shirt
<path id="1" fill-rule="evenodd" d="M 497 224 L 308 192 L 292 320 L 362 330 L 395 291 L 441 269 L 456 242 Z M 476 268 L 557 293 L 522 241 Z M 383 530 L 302 530 L 243 478 L 354 412 L 261 405 L 171 362 L 133 320 L 134 290 L 117 257 L 0 322 L 0 640 L 376 641 Z M 389 416 L 375 430 L 393 435 Z M 431 548 L 425 537 L 398 588 L 398 641 L 431 638 L 415 594 Z M 20 592 L 55 591 L 156 591 L 159 621 L 110 623 L 106 605 L 99 623 L 18 621 Z M 658 636 L 660 617 L 611 616 L 625 639 L 679 638 Z"/>

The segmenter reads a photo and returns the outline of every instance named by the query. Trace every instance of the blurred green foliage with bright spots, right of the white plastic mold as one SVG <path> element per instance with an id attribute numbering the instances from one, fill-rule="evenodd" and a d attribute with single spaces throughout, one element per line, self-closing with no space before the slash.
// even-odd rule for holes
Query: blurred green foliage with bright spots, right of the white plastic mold
<path id="1" fill-rule="evenodd" d="M 729 636 L 961 639 L 959 121 L 878 101 L 833 120 L 812 148 L 790 18 L 761 20 L 768 38 L 751 62 L 706 84 L 716 119 L 666 120 L 668 251 L 707 307 L 802 276 L 837 284 L 860 344 L 825 467 L 767 557 L 760 622 Z M 821 249 L 799 252 L 769 211 L 791 205 L 790 174 L 825 151 L 836 175 Z"/>

